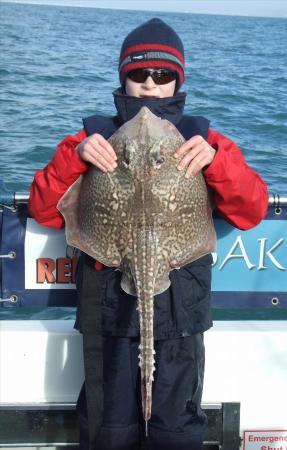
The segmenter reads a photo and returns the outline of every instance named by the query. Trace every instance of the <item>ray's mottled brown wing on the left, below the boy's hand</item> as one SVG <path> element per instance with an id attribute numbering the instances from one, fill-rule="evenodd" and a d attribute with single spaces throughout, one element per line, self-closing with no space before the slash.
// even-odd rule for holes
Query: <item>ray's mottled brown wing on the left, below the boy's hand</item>
<path id="1" fill-rule="evenodd" d="M 117 175 L 90 168 L 64 194 L 57 207 L 65 218 L 68 244 L 107 266 L 118 267 L 128 235 L 128 194 Z"/>

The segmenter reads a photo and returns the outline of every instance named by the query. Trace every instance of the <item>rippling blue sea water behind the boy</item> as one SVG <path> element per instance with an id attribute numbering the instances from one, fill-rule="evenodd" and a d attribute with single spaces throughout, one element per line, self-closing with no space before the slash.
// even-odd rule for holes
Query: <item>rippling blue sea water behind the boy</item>
<path id="1" fill-rule="evenodd" d="M 232 138 L 287 194 L 287 20 L 0 3 L 0 178 L 28 190 L 82 117 L 114 114 L 124 37 L 160 17 L 186 52 L 186 113 Z"/>

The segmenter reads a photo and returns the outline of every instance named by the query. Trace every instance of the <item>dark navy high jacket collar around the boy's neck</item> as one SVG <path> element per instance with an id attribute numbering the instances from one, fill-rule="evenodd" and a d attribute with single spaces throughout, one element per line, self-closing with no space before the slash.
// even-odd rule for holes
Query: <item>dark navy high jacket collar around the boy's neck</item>
<path id="1" fill-rule="evenodd" d="M 165 98 L 139 98 L 126 95 L 119 88 L 113 92 L 113 96 L 121 124 L 132 119 L 143 106 L 147 106 L 156 116 L 177 125 L 182 118 L 186 93 L 178 92 L 173 97 Z"/>

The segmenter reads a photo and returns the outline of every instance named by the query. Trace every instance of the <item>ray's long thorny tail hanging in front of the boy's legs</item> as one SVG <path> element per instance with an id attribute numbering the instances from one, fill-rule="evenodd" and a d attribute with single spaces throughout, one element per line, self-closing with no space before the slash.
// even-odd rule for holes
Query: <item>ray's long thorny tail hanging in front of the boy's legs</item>
<path id="1" fill-rule="evenodd" d="M 143 418 L 147 424 L 152 410 L 152 383 L 155 370 L 153 337 L 154 280 L 156 275 L 156 238 L 152 229 L 134 232 L 134 271 L 140 322 L 139 366 Z"/>

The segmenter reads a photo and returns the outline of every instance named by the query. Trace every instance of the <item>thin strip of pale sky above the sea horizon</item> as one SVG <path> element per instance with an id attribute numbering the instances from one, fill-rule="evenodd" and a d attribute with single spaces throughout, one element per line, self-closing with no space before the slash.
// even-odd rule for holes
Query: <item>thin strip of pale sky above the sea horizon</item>
<path id="1" fill-rule="evenodd" d="M 177 11 L 201 14 L 229 14 L 287 18 L 287 0 L 5 0 L 95 8 Z M 0 3 L 2 0 L 0 0 Z"/>

